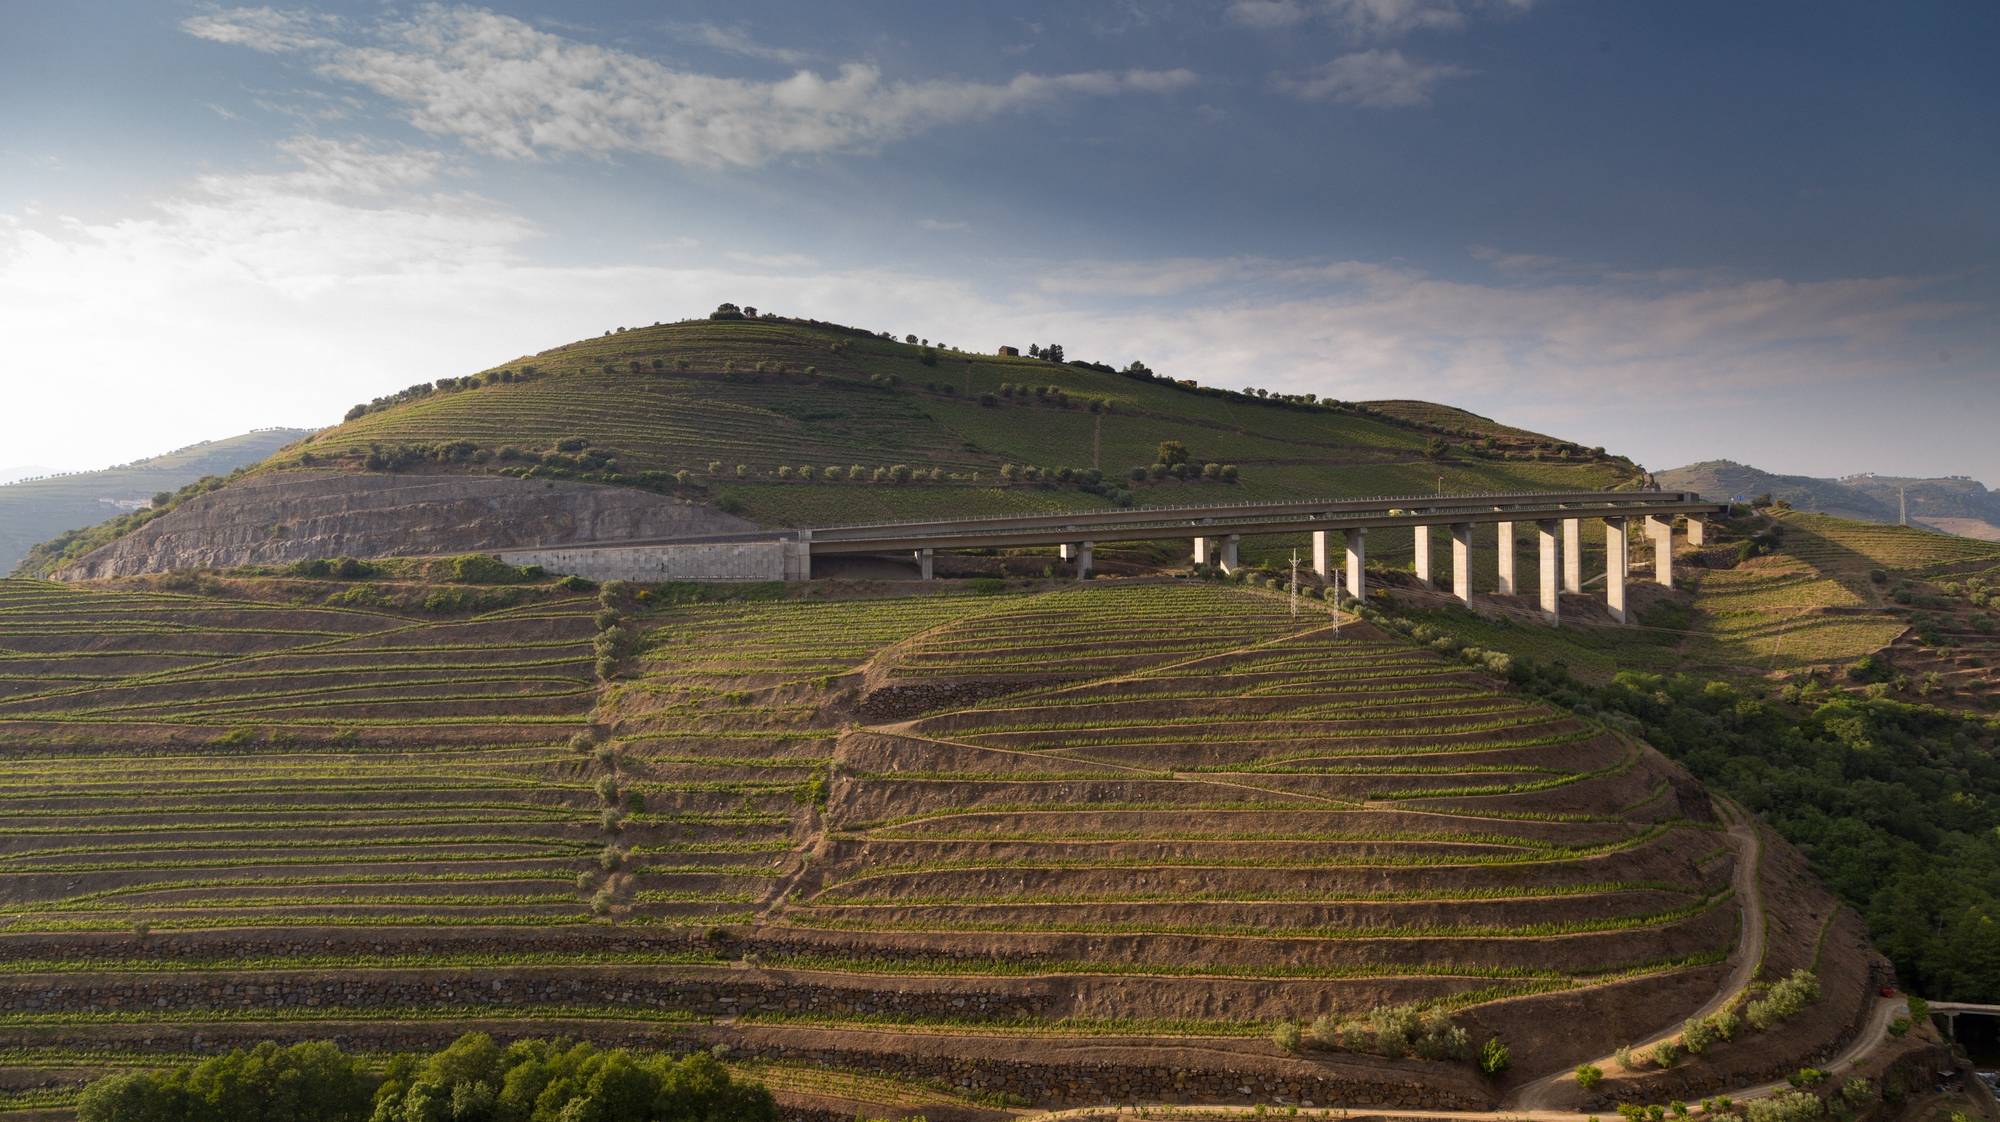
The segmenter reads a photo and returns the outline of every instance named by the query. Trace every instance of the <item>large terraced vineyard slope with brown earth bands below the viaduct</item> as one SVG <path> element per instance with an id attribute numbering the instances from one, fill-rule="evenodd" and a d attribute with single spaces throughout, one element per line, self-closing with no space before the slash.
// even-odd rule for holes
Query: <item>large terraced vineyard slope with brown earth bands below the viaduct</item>
<path id="1" fill-rule="evenodd" d="M 1324 606 L 814 592 L 440 622 L 0 586 L 0 1090 L 484 1028 L 940 1112 L 1482 1106 L 1458 1044 L 1272 1032 L 1416 1006 L 1540 1074 L 1678 1024 L 1762 938 L 1678 768 Z M 598 684 L 604 612 L 644 642 Z"/>

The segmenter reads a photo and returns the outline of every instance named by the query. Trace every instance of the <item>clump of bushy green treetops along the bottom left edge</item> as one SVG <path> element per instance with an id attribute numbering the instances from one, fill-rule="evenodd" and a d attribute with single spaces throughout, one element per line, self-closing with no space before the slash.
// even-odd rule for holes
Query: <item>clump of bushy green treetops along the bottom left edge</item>
<path id="1" fill-rule="evenodd" d="M 334 1044 L 264 1042 L 84 1088 L 78 1122 L 774 1122 L 770 1092 L 708 1052 L 460 1036 L 372 1074 Z"/>

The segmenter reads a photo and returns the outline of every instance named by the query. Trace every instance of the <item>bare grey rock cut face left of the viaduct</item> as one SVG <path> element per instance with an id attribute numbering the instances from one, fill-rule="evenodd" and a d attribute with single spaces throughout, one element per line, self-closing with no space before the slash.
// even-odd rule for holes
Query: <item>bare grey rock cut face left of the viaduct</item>
<path id="1" fill-rule="evenodd" d="M 278 472 L 192 498 L 56 576 L 90 580 L 756 528 L 696 502 L 570 480 Z"/>

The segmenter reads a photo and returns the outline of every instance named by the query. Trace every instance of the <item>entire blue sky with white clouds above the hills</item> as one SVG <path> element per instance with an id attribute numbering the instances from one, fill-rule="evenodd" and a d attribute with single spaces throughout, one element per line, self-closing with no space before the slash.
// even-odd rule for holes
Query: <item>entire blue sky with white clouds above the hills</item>
<path id="1" fill-rule="evenodd" d="M 2000 8 L 0 0 L 0 464 L 720 300 L 2000 482 Z"/>

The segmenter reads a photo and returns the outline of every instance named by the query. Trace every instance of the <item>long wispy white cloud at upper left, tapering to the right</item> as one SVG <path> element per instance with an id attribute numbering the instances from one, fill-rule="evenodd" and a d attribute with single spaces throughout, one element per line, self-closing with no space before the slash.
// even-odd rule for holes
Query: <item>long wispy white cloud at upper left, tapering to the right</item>
<path id="1" fill-rule="evenodd" d="M 756 166 L 786 154 L 850 152 L 1068 96 L 1166 94 L 1188 70 L 1016 74 L 1006 82 L 900 82 L 850 62 L 776 82 L 672 70 L 568 40 L 482 8 L 420 8 L 340 38 L 300 18 L 234 8 L 186 20 L 190 34 L 312 58 L 330 78 L 402 106 L 436 136 L 508 158 L 644 152 L 696 166 Z"/>

